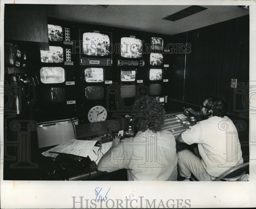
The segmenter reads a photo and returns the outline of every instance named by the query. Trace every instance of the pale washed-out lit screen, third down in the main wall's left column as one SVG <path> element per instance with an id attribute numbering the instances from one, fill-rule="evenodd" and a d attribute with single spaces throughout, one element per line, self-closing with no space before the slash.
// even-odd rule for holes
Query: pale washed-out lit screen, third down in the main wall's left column
<path id="1" fill-rule="evenodd" d="M 65 70 L 61 67 L 43 67 L 40 69 L 40 80 L 42 83 L 63 83 L 65 81 Z"/>

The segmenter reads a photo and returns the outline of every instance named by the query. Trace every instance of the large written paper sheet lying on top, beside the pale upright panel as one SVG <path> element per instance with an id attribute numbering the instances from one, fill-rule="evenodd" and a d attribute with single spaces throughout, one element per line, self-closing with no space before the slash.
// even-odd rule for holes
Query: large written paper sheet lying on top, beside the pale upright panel
<path id="1" fill-rule="evenodd" d="M 56 158 L 58 154 L 49 153 L 49 151 L 51 151 L 51 152 L 74 154 L 74 155 L 78 155 L 86 158 L 88 154 L 92 151 L 92 148 L 96 142 L 97 141 L 71 139 L 67 142 L 64 142 L 54 148 L 51 148 L 43 152 L 42 155 Z"/>

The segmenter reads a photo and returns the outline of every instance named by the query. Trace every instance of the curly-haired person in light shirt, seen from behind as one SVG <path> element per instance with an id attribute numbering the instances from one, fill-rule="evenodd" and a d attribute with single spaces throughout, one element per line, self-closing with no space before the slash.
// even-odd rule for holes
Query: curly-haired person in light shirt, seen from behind
<path id="1" fill-rule="evenodd" d="M 143 116 L 137 119 L 136 136 L 121 142 L 121 137 L 116 137 L 100 159 L 98 170 L 112 172 L 126 168 L 129 181 L 177 181 L 175 138 L 156 126 L 157 122 L 164 121 L 163 106 L 148 97 L 141 99 L 139 108 Z"/>

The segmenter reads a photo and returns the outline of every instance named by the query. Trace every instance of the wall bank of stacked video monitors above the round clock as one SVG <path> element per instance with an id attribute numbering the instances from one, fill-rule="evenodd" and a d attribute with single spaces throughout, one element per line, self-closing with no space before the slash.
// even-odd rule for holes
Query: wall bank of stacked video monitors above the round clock
<path id="1" fill-rule="evenodd" d="M 49 50 L 40 50 L 38 73 L 44 113 L 48 108 L 52 115 L 70 110 L 76 114 L 78 109 L 81 122 L 88 122 L 85 115 L 95 106 L 112 113 L 133 112 L 144 96 L 167 104 L 168 60 L 163 38 L 97 31 L 90 25 L 77 29 L 71 40 L 69 26 L 50 23 Z"/>

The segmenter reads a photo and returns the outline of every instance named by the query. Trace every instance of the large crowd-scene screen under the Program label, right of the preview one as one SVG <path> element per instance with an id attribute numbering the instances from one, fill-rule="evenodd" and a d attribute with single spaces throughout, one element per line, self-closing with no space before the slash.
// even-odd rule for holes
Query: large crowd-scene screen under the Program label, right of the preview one
<path id="1" fill-rule="evenodd" d="M 142 55 L 142 41 L 138 38 L 121 38 L 121 56 L 127 58 L 140 58 Z"/>

